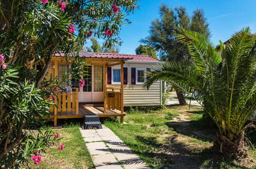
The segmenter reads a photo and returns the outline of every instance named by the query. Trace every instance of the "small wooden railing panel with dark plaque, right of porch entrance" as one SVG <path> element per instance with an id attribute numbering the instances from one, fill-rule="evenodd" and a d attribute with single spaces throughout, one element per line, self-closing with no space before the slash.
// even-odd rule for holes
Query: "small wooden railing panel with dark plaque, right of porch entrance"
<path id="1" fill-rule="evenodd" d="M 121 89 L 107 88 L 107 110 L 121 110 Z"/>

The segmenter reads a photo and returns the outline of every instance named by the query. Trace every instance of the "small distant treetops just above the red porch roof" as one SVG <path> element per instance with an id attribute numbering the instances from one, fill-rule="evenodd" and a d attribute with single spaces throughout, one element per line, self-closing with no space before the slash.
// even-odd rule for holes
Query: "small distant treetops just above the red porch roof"
<path id="1" fill-rule="evenodd" d="M 114 53 L 118 54 L 119 53 L 119 47 L 115 45 L 111 46 L 101 46 L 99 42 L 97 41 L 96 38 L 91 38 L 92 45 L 91 47 L 87 48 L 87 52 L 94 52 L 94 53 Z"/>

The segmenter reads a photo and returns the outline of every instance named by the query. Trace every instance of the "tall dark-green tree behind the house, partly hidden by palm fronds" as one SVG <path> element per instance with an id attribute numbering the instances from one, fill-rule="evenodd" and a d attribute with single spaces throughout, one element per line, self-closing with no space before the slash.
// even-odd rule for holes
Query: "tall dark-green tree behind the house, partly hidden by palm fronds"
<path id="1" fill-rule="evenodd" d="M 159 12 L 160 18 L 152 21 L 149 36 L 142 39 L 141 42 L 155 49 L 161 60 L 189 64 L 190 56 L 187 47 L 177 41 L 174 33 L 182 27 L 185 30 L 199 31 L 209 37 L 210 30 L 203 11 L 195 10 L 190 18 L 184 7 L 172 10 L 162 4 Z M 177 89 L 176 93 L 180 104 L 185 105 L 183 94 Z"/>

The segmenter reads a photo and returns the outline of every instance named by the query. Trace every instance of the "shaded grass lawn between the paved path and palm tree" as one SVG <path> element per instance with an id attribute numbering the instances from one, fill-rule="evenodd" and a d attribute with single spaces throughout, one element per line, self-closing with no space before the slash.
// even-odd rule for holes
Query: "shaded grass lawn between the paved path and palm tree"
<path id="1" fill-rule="evenodd" d="M 245 169 L 256 163 L 251 150 L 251 163 L 244 167 L 213 153 L 216 129 L 202 119 L 197 106 L 171 106 L 165 110 L 143 113 L 132 110 L 127 124 L 107 121 L 105 125 L 122 139 L 153 169 Z M 176 119 L 175 122 L 171 122 Z M 185 121 L 184 121 L 185 120 Z"/>

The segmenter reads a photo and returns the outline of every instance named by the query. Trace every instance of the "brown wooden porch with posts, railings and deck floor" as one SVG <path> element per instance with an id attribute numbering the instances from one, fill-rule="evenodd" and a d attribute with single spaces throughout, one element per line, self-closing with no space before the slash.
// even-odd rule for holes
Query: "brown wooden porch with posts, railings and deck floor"
<path id="1" fill-rule="evenodd" d="M 58 76 L 58 65 L 70 64 L 63 62 L 62 58 L 53 58 L 54 76 Z M 104 100 L 102 106 L 83 106 L 79 105 L 79 88 L 65 88 L 57 91 L 57 97 L 54 100 L 55 105 L 52 106 L 50 119 L 57 126 L 57 119 L 68 118 L 84 118 L 85 115 L 96 114 L 99 117 L 120 116 L 120 123 L 124 122 L 124 61 L 125 59 L 99 59 L 86 58 L 85 61 L 90 65 L 100 65 L 103 67 L 103 92 Z M 120 88 L 107 87 L 107 68 L 115 65 L 121 67 L 121 83 Z M 69 89 L 69 90 L 67 90 Z M 81 90 L 81 89 L 80 89 Z"/>

